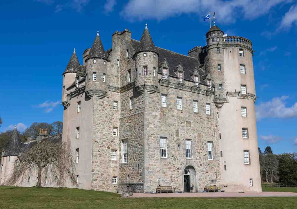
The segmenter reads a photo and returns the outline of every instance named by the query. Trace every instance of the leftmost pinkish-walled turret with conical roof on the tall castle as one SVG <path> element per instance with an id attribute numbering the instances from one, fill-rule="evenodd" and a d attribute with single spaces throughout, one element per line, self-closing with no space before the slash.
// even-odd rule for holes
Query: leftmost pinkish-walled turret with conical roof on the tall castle
<path id="1" fill-rule="evenodd" d="M 68 65 L 63 73 L 63 91 L 62 91 L 62 104 L 64 109 L 69 106 L 67 102 L 67 88 L 75 81 L 76 74 L 80 70 L 80 64 L 76 56 L 75 49 L 73 50 L 72 56 L 68 62 Z"/>

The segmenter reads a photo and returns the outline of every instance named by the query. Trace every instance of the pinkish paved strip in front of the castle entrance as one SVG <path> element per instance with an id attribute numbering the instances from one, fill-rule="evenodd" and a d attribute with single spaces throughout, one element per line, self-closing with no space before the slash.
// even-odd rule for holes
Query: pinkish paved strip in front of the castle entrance
<path id="1" fill-rule="evenodd" d="M 237 192 L 210 192 L 210 193 L 133 193 L 130 197 L 297 197 L 294 192 L 260 192 L 260 193 L 237 193 Z"/>

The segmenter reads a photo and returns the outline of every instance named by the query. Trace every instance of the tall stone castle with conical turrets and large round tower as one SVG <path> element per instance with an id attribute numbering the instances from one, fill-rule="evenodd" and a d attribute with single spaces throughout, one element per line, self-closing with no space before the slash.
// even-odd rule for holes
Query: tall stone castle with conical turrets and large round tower
<path id="1" fill-rule="evenodd" d="M 212 26 L 186 56 L 156 47 L 147 26 L 131 34 L 116 31 L 105 51 L 98 32 L 63 73 L 78 188 L 261 192 L 251 41 Z"/>

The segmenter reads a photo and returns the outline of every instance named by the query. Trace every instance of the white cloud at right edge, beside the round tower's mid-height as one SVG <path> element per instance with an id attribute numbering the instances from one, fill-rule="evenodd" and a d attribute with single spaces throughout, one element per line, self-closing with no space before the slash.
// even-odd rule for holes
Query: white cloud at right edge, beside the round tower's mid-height
<path id="1" fill-rule="evenodd" d="M 256 105 L 257 120 L 261 118 L 289 118 L 297 117 L 297 102 L 286 107 L 289 96 L 274 97 L 271 101 Z"/>

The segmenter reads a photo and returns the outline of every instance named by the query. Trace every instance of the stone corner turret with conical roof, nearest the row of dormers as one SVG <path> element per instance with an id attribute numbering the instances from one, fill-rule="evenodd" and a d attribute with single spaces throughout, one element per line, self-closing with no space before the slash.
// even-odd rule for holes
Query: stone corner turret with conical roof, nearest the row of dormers
<path id="1" fill-rule="evenodd" d="M 139 45 L 135 51 L 135 88 L 142 93 L 148 91 L 153 94 L 158 91 L 158 56 L 154 42 L 146 27 L 141 36 Z"/>

